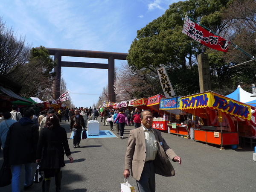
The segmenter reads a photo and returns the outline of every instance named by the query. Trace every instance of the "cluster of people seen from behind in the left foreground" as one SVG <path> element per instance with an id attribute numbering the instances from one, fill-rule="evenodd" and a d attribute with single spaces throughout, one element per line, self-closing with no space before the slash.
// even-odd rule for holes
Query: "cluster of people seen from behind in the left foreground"
<path id="1" fill-rule="evenodd" d="M 65 166 L 64 151 L 73 163 L 67 132 L 50 108 L 35 116 L 33 108 L 23 109 L 23 115 L 12 105 L 12 111 L 0 113 L 0 143 L 4 163 L 12 168 L 12 192 L 20 191 L 21 168 L 25 167 L 24 190 L 34 183 L 32 163 L 37 162 L 44 171 L 42 191 L 49 192 L 51 178 L 55 177 L 56 192 L 61 190 L 61 167 Z M 40 125 L 39 125 L 40 123 Z M 40 133 L 39 133 L 40 132 Z"/>

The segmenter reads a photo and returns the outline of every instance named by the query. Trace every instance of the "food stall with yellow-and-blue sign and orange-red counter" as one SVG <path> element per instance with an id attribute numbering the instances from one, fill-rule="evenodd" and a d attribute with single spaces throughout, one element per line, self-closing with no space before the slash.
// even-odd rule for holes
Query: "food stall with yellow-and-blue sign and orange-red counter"
<path id="1" fill-rule="evenodd" d="M 221 145 L 221 149 L 224 145 L 239 145 L 235 122 L 251 118 L 250 105 L 212 91 L 181 97 L 180 110 L 202 119 L 202 125 L 195 127 L 196 141 Z"/>

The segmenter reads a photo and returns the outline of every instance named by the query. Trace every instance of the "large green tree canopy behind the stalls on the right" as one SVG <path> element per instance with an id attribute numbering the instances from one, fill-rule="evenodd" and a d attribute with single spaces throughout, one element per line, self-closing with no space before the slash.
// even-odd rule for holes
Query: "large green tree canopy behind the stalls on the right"
<path id="1" fill-rule="evenodd" d="M 196 69 L 197 56 L 201 53 L 209 55 L 213 91 L 226 93 L 238 84 L 247 86 L 254 83 L 254 68 L 229 68 L 250 59 L 247 55 L 232 49 L 232 46 L 228 53 L 210 49 L 183 34 L 182 28 L 185 15 L 188 15 L 254 54 L 255 5 L 255 0 L 187 0 L 173 3 L 161 17 L 137 31 L 137 37 L 129 49 L 128 64 L 133 70 L 145 69 L 153 73 L 165 66 L 178 95 L 199 92 Z"/>

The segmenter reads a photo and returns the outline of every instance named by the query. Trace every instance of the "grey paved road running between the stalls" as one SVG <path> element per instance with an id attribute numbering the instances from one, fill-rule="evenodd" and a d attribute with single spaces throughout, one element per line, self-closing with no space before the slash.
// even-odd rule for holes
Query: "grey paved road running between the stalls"
<path id="1" fill-rule="evenodd" d="M 62 121 L 70 137 L 69 123 Z M 100 124 L 101 130 L 110 126 Z M 125 126 L 124 140 L 116 138 L 98 138 L 81 140 L 80 148 L 73 148 L 73 140 L 69 140 L 74 163 L 66 159 L 62 169 L 63 192 L 119 192 L 123 182 L 123 169 L 129 131 L 133 126 Z M 116 131 L 113 131 L 116 134 Z M 182 158 L 182 165 L 172 163 L 176 175 L 163 177 L 156 175 L 157 192 L 255 192 L 256 162 L 253 161 L 252 148 L 243 146 L 241 150 L 205 145 L 187 140 L 173 134 L 162 134 L 166 142 Z M 118 136 L 118 135 L 117 135 Z M 2 150 L 3 151 L 3 150 Z M 3 153 L 0 153 L 0 165 Z M 34 165 L 34 170 L 36 166 Z M 21 173 L 20 186 L 24 182 Z M 51 191 L 55 182 L 52 180 Z M 129 183 L 136 186 L 134 178 Z M 135 187 L 137 190 L 137 186 Z M 0 188 L 2 192 L 11 191 L 11 186 Z M 21 189 L 23 191 L 23 188 Z M 29 192 L 41 191 L 41 183 L 31 186 Z M 138 191 L 138 190 L 137 190 Z"/>

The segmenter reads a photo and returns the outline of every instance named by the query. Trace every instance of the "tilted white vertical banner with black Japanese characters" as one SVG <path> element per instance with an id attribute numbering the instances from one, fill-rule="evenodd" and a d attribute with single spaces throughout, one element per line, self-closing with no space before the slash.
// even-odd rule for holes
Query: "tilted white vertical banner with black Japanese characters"
<path id="1" fill-rule="evenodd" d="M 175 96 L 175 90 L 172 87 L 172 82 L 170 81 L 169 76 L 166 73 L 165 67 L 158 68 L 157 73 L 163 89 L 164 96 L 166 96 L 166 98 Z"/>

